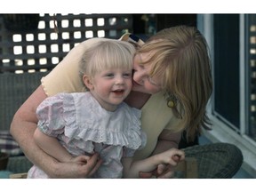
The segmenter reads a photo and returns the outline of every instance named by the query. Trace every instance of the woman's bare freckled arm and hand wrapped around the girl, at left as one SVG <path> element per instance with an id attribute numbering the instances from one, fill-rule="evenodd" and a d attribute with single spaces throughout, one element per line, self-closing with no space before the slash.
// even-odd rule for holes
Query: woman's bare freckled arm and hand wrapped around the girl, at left
<path id="1" fill-rule="evenodd" d="M 33 139 L 36 131 L 36 108 L 47 97 L 42 85 L 33 92 L 28 100 L 18 109 L 13 116 L 10 132 L 20 144 L 29 161 L 36 164 L 52 178 L 85 178 L 95 172 L 100 164 L 99 155 L 95 154 L 86 164 L 60 163 L 52 156 L 38 148 Z"/>

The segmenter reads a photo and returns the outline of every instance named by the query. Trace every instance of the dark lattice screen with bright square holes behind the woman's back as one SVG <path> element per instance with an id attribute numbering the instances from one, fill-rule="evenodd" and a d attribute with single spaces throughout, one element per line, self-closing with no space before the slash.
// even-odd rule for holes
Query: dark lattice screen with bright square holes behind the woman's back
<path id="1" fill-rule="evenodd" d="M 22 16 L 0 15 L 0 73 L 51 70 L 85 39 L 132 32 L 130 14 L 40 14 L 36 28 Z"/>

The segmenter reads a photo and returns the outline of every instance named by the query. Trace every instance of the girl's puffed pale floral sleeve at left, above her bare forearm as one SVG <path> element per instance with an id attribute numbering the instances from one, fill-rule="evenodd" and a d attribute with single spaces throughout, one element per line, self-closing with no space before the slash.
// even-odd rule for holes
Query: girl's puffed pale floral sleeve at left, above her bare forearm
<path id="1" fill-rule="evenodd" d="M 46 98 L 36 109 L 37 127 L 49 136 L 64 132 L 63 94 Z"/>

